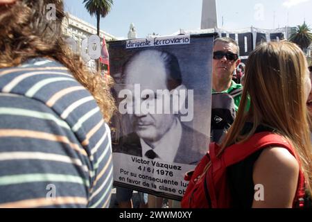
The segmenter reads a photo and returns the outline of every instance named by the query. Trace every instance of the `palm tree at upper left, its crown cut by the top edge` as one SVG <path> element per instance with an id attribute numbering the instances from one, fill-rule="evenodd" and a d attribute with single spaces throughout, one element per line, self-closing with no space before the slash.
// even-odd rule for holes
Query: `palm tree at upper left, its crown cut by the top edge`
<path id="1" fill-rule="evenodd" d="M 97 35 L 100 36 L 100 19 L 106 17 L 110 12 L 113 1 L 112 0 L 84 0 L 85 8 L 91 16 L 96 16 L 96 30 Z"/>

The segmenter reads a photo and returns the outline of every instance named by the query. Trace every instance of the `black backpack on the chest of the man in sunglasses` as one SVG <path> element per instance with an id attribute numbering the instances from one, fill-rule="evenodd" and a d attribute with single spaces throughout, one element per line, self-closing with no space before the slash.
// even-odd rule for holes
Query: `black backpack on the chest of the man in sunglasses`
<path id="1" fill-rule="evenodd" d="M 213 93 L 211 96 L 210 142 L 221 142 L 225 132 L 236 117 L 234 97 L 242 94 L 243 89 L 234 89 L 229 93 Z"/>

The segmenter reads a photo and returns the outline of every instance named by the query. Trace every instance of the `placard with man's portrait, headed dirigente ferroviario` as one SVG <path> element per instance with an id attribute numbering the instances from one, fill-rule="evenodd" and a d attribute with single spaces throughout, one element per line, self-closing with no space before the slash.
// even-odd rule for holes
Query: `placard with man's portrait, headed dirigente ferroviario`
<path id="1" fill-rule="evenodd" d="M 180 200 L 207 152 L 214 35 L 109 42 L 114 185 Z"/>

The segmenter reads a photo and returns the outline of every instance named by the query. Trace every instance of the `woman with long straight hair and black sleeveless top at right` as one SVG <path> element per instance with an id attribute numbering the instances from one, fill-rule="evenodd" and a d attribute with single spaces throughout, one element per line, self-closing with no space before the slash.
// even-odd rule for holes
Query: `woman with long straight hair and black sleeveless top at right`
<path id="1" fill-rule="evenodd" d="M 300 171 L 311 191 L 311 144 L 306 99 L 311 89 L 306 58 L 290 42 L 262 44 L 249 56 L 241 108 L 222 148 L 270 131 L 292 144 L 297 159 L 285 148 L 267 147 L 227 169 L 234 207 L 294 207 Z M 251 105 L 244 112 L 250 96 Z M 254 198 L 255 185 L 263 198 Z"/>

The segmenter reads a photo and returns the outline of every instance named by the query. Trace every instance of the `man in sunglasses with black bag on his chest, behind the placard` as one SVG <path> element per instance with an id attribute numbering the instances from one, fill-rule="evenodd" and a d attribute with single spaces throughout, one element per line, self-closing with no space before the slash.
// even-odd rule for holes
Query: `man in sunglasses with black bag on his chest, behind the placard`
<path id="1" fill-rule="evenodd" d="M 232 125 L 239 103 L 242 85 L 236 84 L 234 71 L 239 65 L 239 45 L 229 37 L 214 40 L 212 62 L 211 142 L 219 143 Z M 247 103 L 247 109 L 250 101 Z"/>

